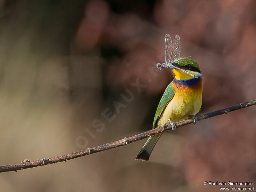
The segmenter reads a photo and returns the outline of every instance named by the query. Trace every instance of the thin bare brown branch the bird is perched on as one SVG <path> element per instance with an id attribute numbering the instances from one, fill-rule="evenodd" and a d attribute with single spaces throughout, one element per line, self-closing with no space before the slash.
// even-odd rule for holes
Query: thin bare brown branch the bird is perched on
<path id="1" fill-rule="evenodd" d="M 212 112 L 209 112 L 209 113 L 204 113 L 204 114 L 201 114 L 201 115 L 197 115 L 197 119 L 198 119 L 198 121 L 201 121 L 201 120 L 208 119 L 208 118 L 214 117 L 214 116 L 218 116 L 218 115 L 221 115 L 221 114 L 224 114 L 224 113 L 227 114 L 230 111 L 235 111 L 237 109 L 249 107 L 249 106 L 252 106 L 252 105 L 255 105 L 255 104 L 256 104 L 256 99 L 251 100 L 251 101 L 247 101 L 247 102 L 244 102 L 244 103 L 239 103 L 239 104 L 227 107 L 227 108 L 222 108 L 222 109 L 212 111 Z M 184 125 L 187 125 L 187 124 L 191 124 L 193 122 L 194 122 L 193 118 L 188 118 L 188 119 L 185 119 L 183 121 L 179 121 L 175 124 L 176 124 L 176 127 L 181 127 L 181 126 L 184 126 Z M 114 142 L 111 142 L 111 143 L 106 143 L 106 144 L 103 144 L 103 145 L 100 145 L 100 146 L 97 146 L 97 147 L 93 147 L 93 148 L 87 148 L 87 149 L 84 149 L 82 151 L 78 151 L 78 152 L 75 152 L 75 153 L 70 153 L 70 154 L 67 154 L 67 155 L 61 155 L 61 156 L 56 156 L 56 157 L 51 157 L 51 158 L 38 159 L 36 161 L 25 161 L 25 162 L 18 163 L 18 164 L 3 165 L 3 166 L 0 166 L 0 172 L 9 172 L 9 171 L 17 172 L 17 170 L 21 170 L 21 169 L 28 169 L 28 168 L 32 168 L 32 167 L 38 167 L 38 166 L 43 166 L 43 165 L 48 165 L 48 164 L 59 163 L 59 162 L 62 162 L 62 161 L 67 161 L 67 160 L 74 159 L 74 158 L 77 158 L 77 157 L 86 156 L 86 155 L 97 153 L 97 152 L 100 152 L 100 151 L 105 151 L 105 150 L 108 150 L 108 149 L 112 149 L 112 148 L 120 147 L 120 146 L 123 146 L 123 145 L 127 145 L 129 143 L 132 143 L 132 142 L 135 142 L 135 141 L 138 141 L 138 140 L 142 140 L 142 139 L 145 139 L 145 138 L 147 138 L 151 135 L 155 135 L 157 133 L 168 131 L 168 130 L 172 130 L 171 125 L 166 125 L 164 127 L 157 127 L 156 129 L 152 129 L 150 131 L 140 133 L 140 134 L 134 135 L 132 137 L 128 137 L 128 138 L 125 137 L 124 139 L 121 139 L 121 140 L 118 140 L 118 141 L 114 141 Z"/>

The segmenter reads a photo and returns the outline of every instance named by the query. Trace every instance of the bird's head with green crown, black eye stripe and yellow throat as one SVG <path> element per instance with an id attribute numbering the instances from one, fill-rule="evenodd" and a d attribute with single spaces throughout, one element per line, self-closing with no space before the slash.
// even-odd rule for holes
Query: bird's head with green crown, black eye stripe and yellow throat
<path id="1" fill-rule="evenodd" d="M 193 75 L 195 75 L 197 77 L 201 77 L 201 71 L 200 71 L 199 65 L 196 61 L 194 61 L 192 59 L 180 57 L 179 59 L 174 60 L 172 65 L 174 65 L 177 68 L 186 70 L 189 73 L 192 73 Z M 193 78 L 193 76 L 191 76 L 177 68 L 172 69 L 173 76 L 176 79 L 186 80 L 186 79 Z"/>

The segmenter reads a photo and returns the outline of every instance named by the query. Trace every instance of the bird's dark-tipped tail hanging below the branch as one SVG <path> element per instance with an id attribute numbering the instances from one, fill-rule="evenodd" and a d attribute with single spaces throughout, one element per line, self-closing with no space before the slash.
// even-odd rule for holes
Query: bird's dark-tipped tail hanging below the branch
<path id="1" fill-rule="evenodd" d="M 158 141 L 162 134 L 163 133 L 158 133 L 156 135 L 150 136 L 145 145 L 142 147 L 142 149 L 136 156 L 135 160 L 140 159 L 142 161 L 148 161 L 150 154 L 152 153 L 153 148 L 156 145 L 156 142 Z"/>

